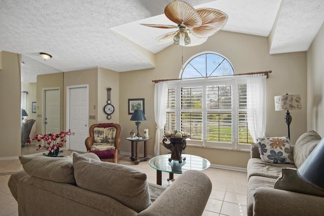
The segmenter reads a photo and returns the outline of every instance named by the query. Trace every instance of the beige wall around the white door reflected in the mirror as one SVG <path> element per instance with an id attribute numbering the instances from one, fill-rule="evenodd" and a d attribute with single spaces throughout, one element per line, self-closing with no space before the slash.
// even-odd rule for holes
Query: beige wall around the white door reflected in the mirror
<path id="1" fill-rule="evenodd" d="M 36 109 L 36 133 L 42 134 L 43 122 L 43 90 L 44 89 L 60 89 L 60 128 L 63 128 L 63 101 L 64 101 L 64 94 L 63 94 L 63 72 L 54 73 L 54 74 L 45 74 L 45 75 L 38 75 L 37 76 L 37 84 L 36 84 L 36 98 L 37 98 L 37 109 Z"/>

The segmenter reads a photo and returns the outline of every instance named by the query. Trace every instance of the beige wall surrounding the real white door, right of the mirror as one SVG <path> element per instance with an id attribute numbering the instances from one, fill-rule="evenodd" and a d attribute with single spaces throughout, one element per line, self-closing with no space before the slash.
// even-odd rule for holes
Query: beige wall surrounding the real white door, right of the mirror
<path id="1" fill-rule="evenodd" d="M 76 85 L 89 85 L 89 115 L 95 116 L 95 120 L 89 119 L 89 126 L 97 123 L 98 118 L 98 69 L 86 69 L 79 71 L 64 72 L 64 95 L 66 87 Z M 64 130 L 66 127 L 66 97 L 64 97 Z"/>

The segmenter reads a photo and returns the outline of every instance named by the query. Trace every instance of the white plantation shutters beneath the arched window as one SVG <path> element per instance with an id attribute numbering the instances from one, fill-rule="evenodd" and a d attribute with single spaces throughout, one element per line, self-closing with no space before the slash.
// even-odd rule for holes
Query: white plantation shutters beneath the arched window
<path id="1" fill-rule="evenodd" d="M 246 79 L 181 81 L 168 85 L 165 131 L 190 134 L 187 144 L 247 149 Z"/>

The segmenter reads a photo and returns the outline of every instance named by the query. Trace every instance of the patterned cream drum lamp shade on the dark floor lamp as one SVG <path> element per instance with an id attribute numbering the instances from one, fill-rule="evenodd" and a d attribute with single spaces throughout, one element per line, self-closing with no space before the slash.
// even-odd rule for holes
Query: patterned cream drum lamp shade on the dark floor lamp
<path id="1" fill-rule="evenodd" d="M 302 103 L 299 94 L 285 94 L 274 96 L 275 111 L 301 110 Z"/>

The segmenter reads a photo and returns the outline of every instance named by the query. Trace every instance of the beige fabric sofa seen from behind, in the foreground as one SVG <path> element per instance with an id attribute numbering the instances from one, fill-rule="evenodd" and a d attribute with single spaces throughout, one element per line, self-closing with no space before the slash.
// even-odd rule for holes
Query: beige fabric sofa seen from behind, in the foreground
<path id="1" fill-rule="evenodd" d="M 24 170 L 8 185 L 19 215 L 201 215 L 212 190 L 208 176 L 186 171 L 169 187 L 146 174 L 100 161 L 93 153 L 73 158 L 22 156 Z"/>

